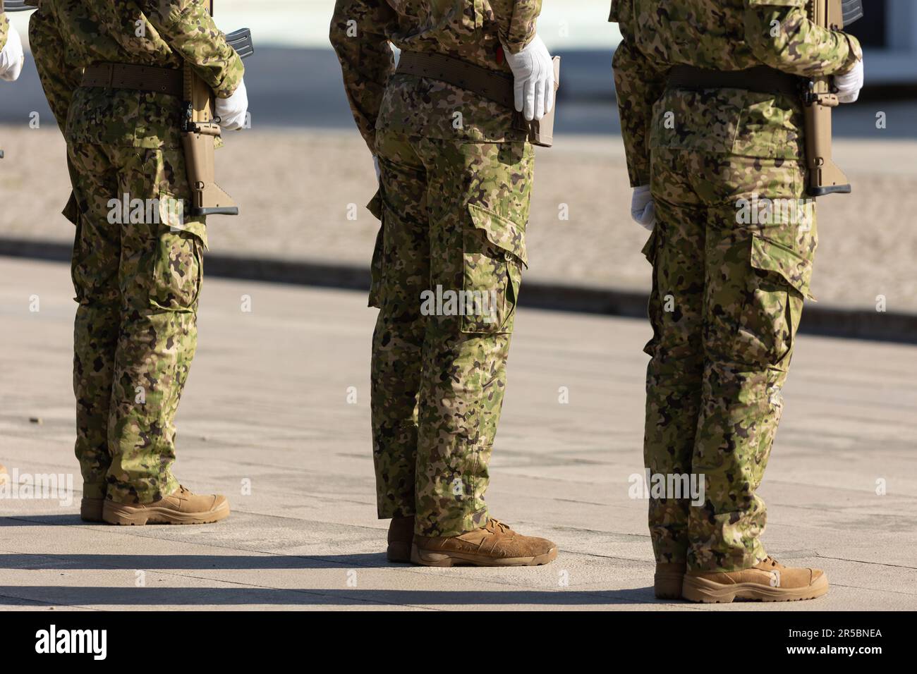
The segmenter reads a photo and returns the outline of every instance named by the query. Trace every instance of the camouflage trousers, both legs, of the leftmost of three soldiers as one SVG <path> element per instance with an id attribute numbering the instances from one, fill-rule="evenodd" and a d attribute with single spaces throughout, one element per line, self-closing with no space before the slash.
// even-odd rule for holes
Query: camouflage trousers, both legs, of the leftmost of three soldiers
<path id="1" fill-rule="evenodd" d="M 69 143 L 68 160 L 83 495 L 149 503 L 178 489 L 172 421 L 197 344 L 204 222 L 171 207 L 189 194 L 180 149 Z"/>

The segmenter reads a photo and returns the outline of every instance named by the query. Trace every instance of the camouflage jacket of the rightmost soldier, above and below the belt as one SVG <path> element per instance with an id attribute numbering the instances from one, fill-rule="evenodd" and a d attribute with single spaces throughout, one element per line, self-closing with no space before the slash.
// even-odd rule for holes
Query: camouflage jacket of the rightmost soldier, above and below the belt
<path id="1" fill-rule="evenodd" d="M 807 0 L 613 0 L 623 40 L 614 86 L 632 186 L 649 184 L 652 147 L 799 159 L 796 98 L 740 89 L 666 91 L 668 69 L 738 71 L 768 65 L 809 76 L 847 72 L 856 38 L 812 23 Z"/>

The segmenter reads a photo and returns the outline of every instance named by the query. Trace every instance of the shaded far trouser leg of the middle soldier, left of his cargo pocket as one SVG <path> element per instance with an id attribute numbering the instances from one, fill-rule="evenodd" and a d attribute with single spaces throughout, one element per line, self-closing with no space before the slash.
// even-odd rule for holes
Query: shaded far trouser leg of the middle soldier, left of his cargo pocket
<path id="1" fill-rule="evenodd" d="M 420 294 L 429 287 L 430 244 L 424 164 L 400 134 L 381 130 L 376 147 L 381 187 L 374 210 L 381 229 L 373 254 L 370 304 L 380 311 L 372 335 L 370 407 L 377 509 L 385 519 L 414 514 L 417 392 L 425 332 Z"/>

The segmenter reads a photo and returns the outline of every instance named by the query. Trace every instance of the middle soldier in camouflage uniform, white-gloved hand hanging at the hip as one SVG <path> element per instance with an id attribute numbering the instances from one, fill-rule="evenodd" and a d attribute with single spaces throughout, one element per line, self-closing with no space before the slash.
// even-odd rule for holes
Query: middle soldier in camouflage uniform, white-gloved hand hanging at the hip
<path id="1" fill-rule="evenodd" d="M 536 36 L 540 9 L 540 0 L 338 0 L 331 21 L 350 106 L 380 171 L 369 206 L 382 223 L 371 413 L 378 514 L 392 518 L 395 561 L 508 566 L 557 555 L 551 542 L 493 519 L 483 499 L 526 264 L 533 148 L 512 109 L 395 73 L 389 44 L 514 74 L 515 58 L 550 62 Z M 540 102 L 527 109 L 543 113 Z M 459 315 L 424 303 L 437 289 L 496 301 Z"/>

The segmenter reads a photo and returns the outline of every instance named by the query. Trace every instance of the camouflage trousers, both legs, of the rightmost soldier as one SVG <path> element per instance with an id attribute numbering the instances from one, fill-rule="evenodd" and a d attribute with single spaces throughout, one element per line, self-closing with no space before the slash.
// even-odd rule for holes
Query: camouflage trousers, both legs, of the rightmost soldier
<path id="1" fill-rule="evenodd" d="M 703 498 L 651 498 L 659 562 L 731 571 L 766 557 L 768 465 L 817 243 L 796 161 L 652 150 L 657 224 L 644 458 Z M 699 503 L 701 502 L 702 503 Z"/>

